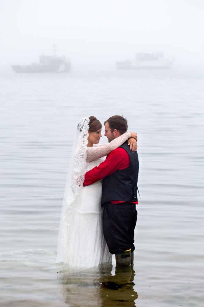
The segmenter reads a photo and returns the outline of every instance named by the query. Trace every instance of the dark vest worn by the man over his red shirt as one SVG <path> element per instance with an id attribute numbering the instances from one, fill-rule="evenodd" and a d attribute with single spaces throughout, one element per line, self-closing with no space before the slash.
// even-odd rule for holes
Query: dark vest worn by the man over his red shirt
<path id="1" fill-rule="evenodd" d="M 130 146 L 127 141 L 123 143 L 121 148 L 124 148 L 129 157 L 130 165 L 123 169 L 117 170 L 112 175 L 106 176 L 102 184 L 101 204 L 111 200 L 119 200 L 126 202 L 136 202 L 137 198 L 137 183 L 138 183 L 138 153 L 130 151 Z"/>

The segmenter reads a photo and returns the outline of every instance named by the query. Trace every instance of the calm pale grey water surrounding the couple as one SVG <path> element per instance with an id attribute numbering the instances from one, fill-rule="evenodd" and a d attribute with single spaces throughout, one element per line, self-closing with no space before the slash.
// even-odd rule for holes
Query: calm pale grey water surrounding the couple
<path id="1" fill-rule="evenodd" d="M 0 306 L 204 306 L 203 81 L 177 69 L 0 72 Z M 77 122 L 116 114 L 138 133 L 134 266 L 60 272 Z"/>

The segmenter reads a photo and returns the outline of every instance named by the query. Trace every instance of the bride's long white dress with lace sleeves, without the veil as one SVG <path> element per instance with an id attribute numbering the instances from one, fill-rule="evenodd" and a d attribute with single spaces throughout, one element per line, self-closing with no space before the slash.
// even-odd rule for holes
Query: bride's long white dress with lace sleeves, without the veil
<path id="1" fill-rule="evenodd" d="M 87 147 L 86 171 L 99 166 L 113 149 L 122 145 L 130 133 L 126 132 L 108 144 Z M 103 208 L 101 207 L 102 180 L 81 191 L 74 207 L 69 211 L 69 223 L 62 233 L 63 263 L 77 267 L 94 267 L 109 262 L 112 255 L 108 251 L 102 227 Z"/>

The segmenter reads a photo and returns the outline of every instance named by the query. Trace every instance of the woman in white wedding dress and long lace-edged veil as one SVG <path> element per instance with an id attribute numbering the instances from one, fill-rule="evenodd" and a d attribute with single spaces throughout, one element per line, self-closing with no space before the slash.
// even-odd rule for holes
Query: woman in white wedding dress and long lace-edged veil
<path id="1" fill-rule="evenodd" d="M 102 124 L 94 116 L 82 118 L 77 125 L 62 205 L 57 263 L 94 267 L 112 259 L 103 235 L 102 182 L 83 187 L 84 175 L 129 138 L 133 137 L 136 144 L 137 134 L 126 132 L 108 144 L 98 144 L 101 130 Z"/>

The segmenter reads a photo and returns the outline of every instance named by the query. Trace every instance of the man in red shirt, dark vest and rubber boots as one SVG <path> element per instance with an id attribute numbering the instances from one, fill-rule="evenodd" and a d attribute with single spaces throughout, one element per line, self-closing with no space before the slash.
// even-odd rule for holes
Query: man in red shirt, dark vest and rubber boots
<path id="1" fill-rule="evenodd" d="M 104 125 L 108 142 L 127 131 L 127 120 L 123 116 L 111 116 Z M 130 151 L 126 141 L 110 152 L 98 167 L 85 174 L 84 186 L 103 179 L 104 238 L 118 265 L 130 265 L 134 259 L 138 168 L 138 154 Z"/>

